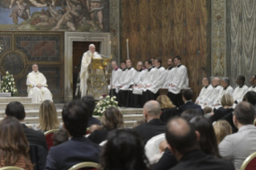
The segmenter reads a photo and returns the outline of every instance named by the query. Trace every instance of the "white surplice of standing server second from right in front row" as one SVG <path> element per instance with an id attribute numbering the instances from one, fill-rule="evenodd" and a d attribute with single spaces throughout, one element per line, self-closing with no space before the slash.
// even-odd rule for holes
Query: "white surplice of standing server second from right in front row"
<path id="1" fill-rule="evenodd" d="M 161 88 L 167 88 L 166 86 L 166 76 L 167 73 L 165 71 L 164 67 L 157 67 L 156 71 L 153 73 L 153 81 L 150 85 L 151 87 L 148 87 L 148 91 L 151 91 L 152 93 L 156 94 L 156 92 Z"/>

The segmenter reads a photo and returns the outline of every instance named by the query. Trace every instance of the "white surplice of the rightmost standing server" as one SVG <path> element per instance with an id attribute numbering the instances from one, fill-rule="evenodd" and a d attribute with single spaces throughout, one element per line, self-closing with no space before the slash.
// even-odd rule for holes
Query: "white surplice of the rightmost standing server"
<path id="1" fill-rule="evenodd" d="M 179 65 L 175 67 L 173 72 L 173 85 L 174 87 L 169 87 L 169 92 L 173 94 L 181 93 L 181 89 L 189 87 L 189 78 L 187 68 L 184 65 Z"/>

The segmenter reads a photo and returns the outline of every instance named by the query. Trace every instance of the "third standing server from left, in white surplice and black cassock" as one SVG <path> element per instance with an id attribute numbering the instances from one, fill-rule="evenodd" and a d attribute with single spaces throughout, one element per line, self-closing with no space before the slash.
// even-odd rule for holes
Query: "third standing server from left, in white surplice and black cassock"
<path id="1" fill-rule="evenodd" d="M 120 107 L 126 107 L 126 103 L 127 103 L 127 95 L 128 95 L 128 91 L 129 89 L 132 87 L 133 85 L 133 76 L 136 72 L 136 70 L 132 67 L 132 62 L 130 59 L 126 60 L 126 73 L 124 76 L 124 81 L 121 83 L 120 85 L 120 90 L 118 91 L 118 105 Z"/>

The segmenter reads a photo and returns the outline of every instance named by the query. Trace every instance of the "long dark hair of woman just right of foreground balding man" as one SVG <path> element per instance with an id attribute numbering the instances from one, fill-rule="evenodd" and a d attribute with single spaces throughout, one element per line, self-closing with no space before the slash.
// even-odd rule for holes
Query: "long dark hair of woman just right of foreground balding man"
<path id="1" fill-rule="evenodd" d="M 203 116 L 197 116 L 191 119 L 189 123 L 200 133 L 199 145 L 201 150 L 207 155 L 220 157 L 213 125 L 209 119 Z"/>

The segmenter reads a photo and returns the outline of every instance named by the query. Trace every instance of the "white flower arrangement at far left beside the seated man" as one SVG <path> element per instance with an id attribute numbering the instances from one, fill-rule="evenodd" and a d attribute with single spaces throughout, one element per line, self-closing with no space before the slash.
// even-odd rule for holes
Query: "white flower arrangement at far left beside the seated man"
<path id="1" fill-rule="evenodd" d="M 15 87 L 14 76 L 10 75 L 8 71 L 6 71 L 6 76 L 2 77 L 0 91 L 2 93 L 9 92 L 11 93 L 11 96 L 18 94 L 17 88 Z"/>

